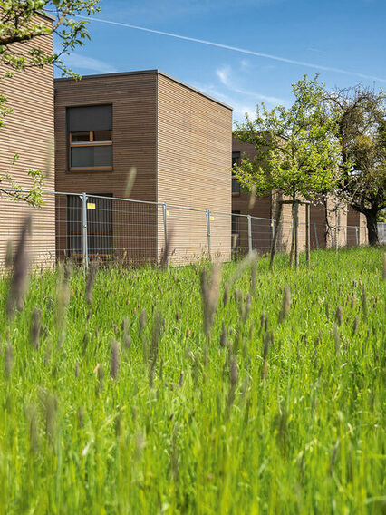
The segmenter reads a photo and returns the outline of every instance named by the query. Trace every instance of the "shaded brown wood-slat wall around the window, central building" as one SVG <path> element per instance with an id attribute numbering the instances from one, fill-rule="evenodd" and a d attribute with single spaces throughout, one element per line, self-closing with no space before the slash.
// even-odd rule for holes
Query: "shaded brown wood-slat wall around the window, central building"
<path id="1" fill-rule="evenodd" d="M 156 200 L 156 78 L 156 73 L 146 73 L 55 81 L 58 191 L 110 193 L 123 198 L 130 169 L 135 167 L 130 199 Z M 101 104 L 112 105 L 112 170 L 70 172 L 66 108 Z M 153 261 L 157 256 L 156 207 L 121 200 L 113 200 L 111 205 L 114 257 Z"/>

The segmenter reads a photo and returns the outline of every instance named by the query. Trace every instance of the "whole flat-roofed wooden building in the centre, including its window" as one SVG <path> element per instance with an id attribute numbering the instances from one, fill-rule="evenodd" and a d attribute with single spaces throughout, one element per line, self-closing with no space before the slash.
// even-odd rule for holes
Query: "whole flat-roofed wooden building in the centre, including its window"
<path id="1" fill-rule="evenodd" d="M 231 108 L 158 70 L 55 80 L 55 147 L 55 189 L 65 193 L 59 256 L 82 253 L 73 193 L 105 197 L 88 200 L 88 251 L 107 259 L 159 260 L 166 216 L 172 261 L 191 261 L 207 254 L 207 217 L 193 208 L 231 211 Z M 132 168 L 130 199 L 140 203 L 120 200 Z M 213 213 L 210 221 L 212 250 L 226 260 L 231 219 L 219 224 Z"/>

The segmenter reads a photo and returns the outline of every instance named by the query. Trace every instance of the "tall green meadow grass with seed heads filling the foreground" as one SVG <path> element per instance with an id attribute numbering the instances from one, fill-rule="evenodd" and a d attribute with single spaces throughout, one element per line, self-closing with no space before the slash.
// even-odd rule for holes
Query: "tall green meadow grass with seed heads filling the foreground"
<path id="1" fill-rule="evenodd" d="M 0 283 L 2 510 L 381 513 L 383 253 L 287 260 L 223 267 L 209 343 L 205 263 Z"/>

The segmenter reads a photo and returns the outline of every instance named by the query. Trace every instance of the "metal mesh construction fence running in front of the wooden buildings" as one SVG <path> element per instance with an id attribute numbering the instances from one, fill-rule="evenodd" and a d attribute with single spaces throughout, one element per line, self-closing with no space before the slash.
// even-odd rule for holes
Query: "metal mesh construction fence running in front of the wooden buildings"
<path id="1" fill-rule="evenodd" d="M 88 267 L 92 260 L 123 266 L 159 264 L 168 254 L 172 265 L 210 258 L 229 261 L 251 250 L 269 252 L 275 219 L 238 213 L 195 209 L 163 202 L 119 199 L 87 193 L 43 193 L 44 205 L 33 211 L 30 256 L 40 266 L 72 260 Z M 11 206 L 11 204 L 9 204 Z M 2 234 L 14 238 L 13 224 Z M 276 249 L 291 247 L 292 222 L 283 221 Z M 305 248 L 305 224 L 299 224 L 299 248 Z M 383 228 L 384 238 L 384 228 Z M 367 241 L 366 229 L 354 226 L 311 224 L 311 248 L 359 246 Z M 165 253 L 168 242 L 169 252 Z"/>

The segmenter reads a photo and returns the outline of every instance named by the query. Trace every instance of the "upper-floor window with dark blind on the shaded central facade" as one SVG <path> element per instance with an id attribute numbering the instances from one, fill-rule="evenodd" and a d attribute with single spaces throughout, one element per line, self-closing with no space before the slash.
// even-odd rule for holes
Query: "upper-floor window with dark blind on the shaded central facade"
<path id="1" fill-rule="evenodd" d="M 111 105 L 67 109 L 69 170 L 112 170 Z"/>

